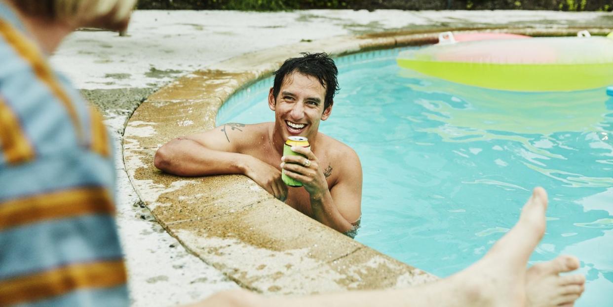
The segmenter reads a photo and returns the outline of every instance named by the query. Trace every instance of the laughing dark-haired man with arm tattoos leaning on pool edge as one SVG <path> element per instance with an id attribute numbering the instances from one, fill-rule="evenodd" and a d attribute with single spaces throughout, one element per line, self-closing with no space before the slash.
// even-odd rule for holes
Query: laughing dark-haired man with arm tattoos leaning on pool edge
<path id="1" fill-rule="evenodd" d="M 154 165 L 178 176 L 243 174 L 275 198 L 340 232 L 360 218 L 362 166 L 349 146 L 318 131 L 332 112 L 338 70 L 325 53 L 287 59 L 275 72 L 268 94 L 274 122 L 225 124 L 173 139 L 155 155 Z M 305 157 L 283 157 L 289 136 L 305 136 Z M 303 183 L 287 188 L 281 172 Z"/>

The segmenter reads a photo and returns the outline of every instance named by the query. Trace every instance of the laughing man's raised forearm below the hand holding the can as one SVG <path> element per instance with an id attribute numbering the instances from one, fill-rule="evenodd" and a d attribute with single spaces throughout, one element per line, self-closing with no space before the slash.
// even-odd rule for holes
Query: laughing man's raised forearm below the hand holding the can
<path id="1" fill-rule="evenodd" d="M 319 223 L 343 233 L 353 228 L 353 225 L 341 215 L 337 206 L 334 205 L 330 191 L 325 191 L 322 194 L 311 194 L 310 199 L 313 218 L 318 220 Z"/>

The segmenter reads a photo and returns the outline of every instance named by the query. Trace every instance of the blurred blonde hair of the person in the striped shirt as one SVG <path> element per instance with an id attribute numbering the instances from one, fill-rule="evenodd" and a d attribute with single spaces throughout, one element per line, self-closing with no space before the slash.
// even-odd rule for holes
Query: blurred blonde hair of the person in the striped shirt
<path id="1" fill-rule="evenodd" d="M 123 30 L 137 0 L 10 0 L 32 17 Z"/>

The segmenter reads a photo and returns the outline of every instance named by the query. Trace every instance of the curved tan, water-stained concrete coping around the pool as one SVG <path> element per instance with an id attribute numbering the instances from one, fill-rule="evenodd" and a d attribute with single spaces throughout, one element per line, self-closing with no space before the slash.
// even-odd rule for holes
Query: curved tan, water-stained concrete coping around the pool
<path id="1" fill-rule="evenodd" d="M 504 32 L 574 35 L 583 29 L 517 28 Z M 300 51 L 326 51 L 340 56 L 422 45 L 436 42 L 441 31 L 444 29 L 300 42 L 243 54 L 183 76 L 148 97 L 129 119 L 123 139 L 129 179 L 166 231 L 246 289 L 265 294 L 310 294 L 433 281 L 435 276 L 291 209 L 245 176 L 170 176 L 154 168 L 153 155 L 172 138 L 215 127 L 217 110 L 230 95 L 267 77 L 287 57 L 297 56 Z M 611 29 L 588 31 L 602 35 Z"/>

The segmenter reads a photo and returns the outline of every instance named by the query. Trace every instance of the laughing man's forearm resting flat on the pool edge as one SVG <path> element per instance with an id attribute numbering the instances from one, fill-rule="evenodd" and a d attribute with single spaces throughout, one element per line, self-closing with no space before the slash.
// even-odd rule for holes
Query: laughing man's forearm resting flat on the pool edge
<path id="1" fill-rule="evenodd" d="M 246 174 L 253 157 L 208 149 L 191 139 L 175 139 L 156 152 L 154 165 L 178 176 Z"/>

